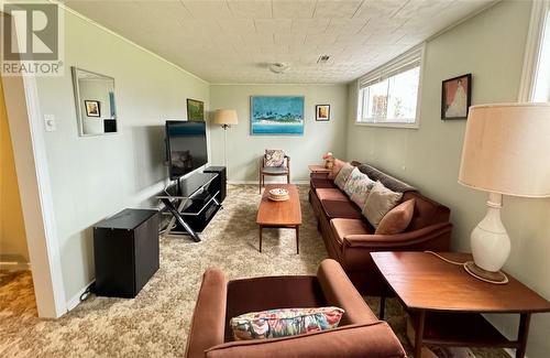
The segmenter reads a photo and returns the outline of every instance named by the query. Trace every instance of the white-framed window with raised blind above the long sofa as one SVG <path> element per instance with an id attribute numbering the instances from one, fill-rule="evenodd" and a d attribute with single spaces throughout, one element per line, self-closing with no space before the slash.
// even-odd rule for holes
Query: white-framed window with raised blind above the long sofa
<path id="1" fill-rule="evenodd" d="M 418 127 L 422 53 L 415 47 L 358 80 L 359 124 Z"/>

